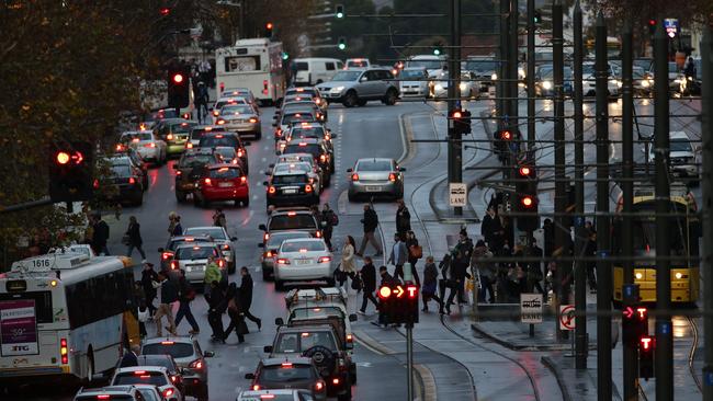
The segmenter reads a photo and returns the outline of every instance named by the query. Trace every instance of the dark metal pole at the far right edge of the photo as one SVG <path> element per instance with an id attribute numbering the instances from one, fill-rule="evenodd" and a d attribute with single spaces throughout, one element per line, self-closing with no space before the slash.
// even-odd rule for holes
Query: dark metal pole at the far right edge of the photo
<path id="1" fill-rule="evenodd" d="M 703 249 L 702 256 L 703 263 L 701 272 L 703 274 L 703 400 L 713 401 L 713 279 L 711 273 L 713 272 L 713 247 L 711 247 L 711 239 L 713 239 L 713 213 L 711 213 L 711 205 L 713 205 L 713 182 L 711 176 L 713 174 L 713 37 L 711 28 L 706 28 L 701 43 L 702 62 L 701 69 L 703 70 L 703 107 L 701 115 L 703 116 L 701 137 L 703 139 L 703 173 L 701 175 L 701 191 L 703 195 Z"/>

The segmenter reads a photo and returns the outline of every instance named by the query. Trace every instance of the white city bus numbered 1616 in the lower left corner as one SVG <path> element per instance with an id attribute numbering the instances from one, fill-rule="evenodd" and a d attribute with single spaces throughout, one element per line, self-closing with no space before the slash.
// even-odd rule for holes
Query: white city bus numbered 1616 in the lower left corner
<path id="1" fill-rule="evenodd" d="M 138 343 L 131 257 L 49 253 L 0 275 L 0 381 L 87 380 Z"/>

